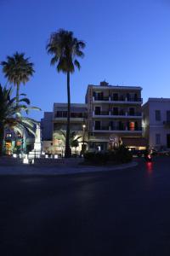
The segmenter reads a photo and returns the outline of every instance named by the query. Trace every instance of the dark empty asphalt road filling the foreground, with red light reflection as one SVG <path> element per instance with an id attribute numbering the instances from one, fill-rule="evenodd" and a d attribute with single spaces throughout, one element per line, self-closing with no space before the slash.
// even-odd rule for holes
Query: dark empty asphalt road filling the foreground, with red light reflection
<path id="1" fill-rule="evenodd" d="M 170 158 L 114 172 L 0 177 L 1 256 L 170 255 Z"/>

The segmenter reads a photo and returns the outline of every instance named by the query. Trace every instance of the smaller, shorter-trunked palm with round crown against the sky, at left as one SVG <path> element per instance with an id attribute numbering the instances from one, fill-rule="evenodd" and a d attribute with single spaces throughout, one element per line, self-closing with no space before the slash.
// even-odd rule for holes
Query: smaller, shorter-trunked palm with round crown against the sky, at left
<path id="1" fill-rule="evenodd" d="M 7 61 L 2 61 L 3 73 L 10 84 L 16 85 L 16 105 L 20 100 L 20 84 L 26 84 L 35 72 L 34 64 L 25 58 L 24 53 L 15 52 L 13 56 L 7 56 Z"/>

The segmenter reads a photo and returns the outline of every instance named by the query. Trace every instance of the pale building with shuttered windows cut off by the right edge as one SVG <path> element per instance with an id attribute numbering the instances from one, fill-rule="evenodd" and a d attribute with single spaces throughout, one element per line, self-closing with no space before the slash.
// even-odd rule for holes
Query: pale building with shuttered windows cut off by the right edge
<path id="1" fill-rule="evenodd" d="M 170 148 L 170 99 L 149 98 L 143 106 L 144 137 L 150 148 Z"/>

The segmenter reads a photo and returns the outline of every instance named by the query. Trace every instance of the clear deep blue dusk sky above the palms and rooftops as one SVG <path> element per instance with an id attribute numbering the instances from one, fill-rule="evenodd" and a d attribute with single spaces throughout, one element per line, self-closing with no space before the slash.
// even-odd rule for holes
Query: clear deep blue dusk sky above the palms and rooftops
<path id="1" fill-rule="evenodd" d="M 149 96 L 170 97 L 169 0 L 0 0 L 0 61 L 16 50 L 35 63 L 21 85 L 42 113 L 66 102 L 66 78 L 50 67 L 46 44 L 64 28 L 87 44 L 82 69 L 71 76 L 71 102 L 84 102 L 88 84 L 140 85 Z M 4 84 L 2 68 L 0 83 Z"/>

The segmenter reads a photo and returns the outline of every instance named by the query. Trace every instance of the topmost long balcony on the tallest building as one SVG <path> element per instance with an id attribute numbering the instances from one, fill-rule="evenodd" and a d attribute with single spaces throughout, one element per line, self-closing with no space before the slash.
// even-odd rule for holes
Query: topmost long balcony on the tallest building
<path id="1" fill-rule="evenodd" d="M 116 103 L 116 104 L 142 104 L 143 99 L 139 97 L 112 97 L 112 96 L 93 96 L 96 103 Z"/>

